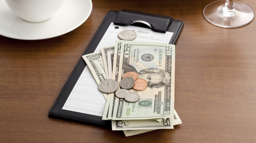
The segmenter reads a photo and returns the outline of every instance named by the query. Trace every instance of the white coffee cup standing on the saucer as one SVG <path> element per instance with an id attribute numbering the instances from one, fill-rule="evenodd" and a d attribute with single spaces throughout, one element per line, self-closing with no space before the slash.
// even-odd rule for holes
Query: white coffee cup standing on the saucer
<path id="1" fill-rule="evenodd" d="M 64 0 L 5 0 L 18 17 L 29 22 L 43 22 L 56 14 Z"/>

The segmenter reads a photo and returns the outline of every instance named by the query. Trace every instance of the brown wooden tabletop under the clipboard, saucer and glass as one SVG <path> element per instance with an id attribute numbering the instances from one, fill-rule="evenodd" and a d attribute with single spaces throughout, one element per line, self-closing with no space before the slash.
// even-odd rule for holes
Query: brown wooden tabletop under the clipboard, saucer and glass
<path id="1" fill-rule="evenodd" d="M 0 36 L 0 142 L 256 142 L 256 21 L 221 28 L 203 18 L 214 0 L 93 0 L 75 30 L 45 40 Z M 255 0 L 242 0 L 256 10 Z M 93 125 L 48 117 L 78 59 L 110 10 L 184 21 L 176 43 L 175 109 L 182 124 L 125 137 Z"/>

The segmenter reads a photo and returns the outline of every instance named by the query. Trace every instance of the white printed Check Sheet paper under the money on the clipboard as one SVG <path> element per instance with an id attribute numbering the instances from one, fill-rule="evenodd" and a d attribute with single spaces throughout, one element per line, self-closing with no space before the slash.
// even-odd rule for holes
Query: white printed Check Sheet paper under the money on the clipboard
<path id="1" fill-rule="evenodd" d="M 95 49 L 95 52 L 101 51 L 101 47 L 115 46 L 115 40 L 119 39 L 118 33 L 123 30 L 135 31 L 137 37 L 133 41 L 141 42 L 169 43 L 174 34 L 168 31 L 166 33 L 154 32 L 149 28 L 138 26 L 119 26 L 114 25 L 112 22 Z M 98 85 L 89 68 L 85 66 L 62 109 L 102 117 L 105 104 L 105 97 L 99 91 Z"/>

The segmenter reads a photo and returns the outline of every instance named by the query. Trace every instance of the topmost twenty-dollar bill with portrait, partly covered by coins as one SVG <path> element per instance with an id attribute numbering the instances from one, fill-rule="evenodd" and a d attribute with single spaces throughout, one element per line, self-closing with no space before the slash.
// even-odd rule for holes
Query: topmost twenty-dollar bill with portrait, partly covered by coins
<path id="1" fill-rule="evenodd" d="M 118 67 L 115 79 L 120 82 L 123 74 L 134 71 L 139 74 L 138 78 L 148 82 L 148 87 L 142 91 L 133 90 L 140 95 L 137 102 L 116 98 L 112 120 L 173 118 L 175 45 L 116 40 L 116 48 L 120 49 L 120 59 L 113 65 Z"/>

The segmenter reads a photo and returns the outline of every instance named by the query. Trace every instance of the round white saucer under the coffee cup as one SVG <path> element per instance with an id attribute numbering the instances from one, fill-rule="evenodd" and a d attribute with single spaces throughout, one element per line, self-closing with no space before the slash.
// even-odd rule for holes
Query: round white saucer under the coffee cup
<path id="1" fill-rule="evenodd" d="M 65 0 L 62 8 L 49 20 L 30 23 L 17 17 L 5 1 L 0 0 L 0 35 L 21 40 L 57 37 L 80 26 L 91 11 L 91 0 Z"/>

